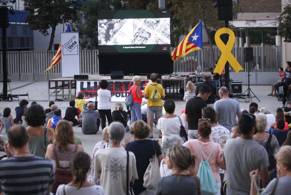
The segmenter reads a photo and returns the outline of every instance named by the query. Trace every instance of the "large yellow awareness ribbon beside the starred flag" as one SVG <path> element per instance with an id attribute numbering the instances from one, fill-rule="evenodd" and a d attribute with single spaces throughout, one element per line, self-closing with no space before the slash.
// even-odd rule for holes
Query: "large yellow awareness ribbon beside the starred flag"
<path id="1" fill-rule="evenodd" d="M 222 42 L 220 35 L 222 34 L 229 34 L 229 39 L 226 45 Z M 233 45 L 235 43 L 235 34 L 234 32 L 229 28 L 221 28 L 215 33 L 215 42 L 219 50 L 221 51 L 221 56 L 219 58 L 219 61 L 217 63 L 217 66 L 214 69 L 214 73 L 219 73 L 223 71 L 223 68 L 228 61 L 229 64 L 233 67 L 236 73 L 238 71 L 243 70 L 242 66 L 237 62 L 233 54 L 231 53 L 231 50 L 233 48 Z"/>

